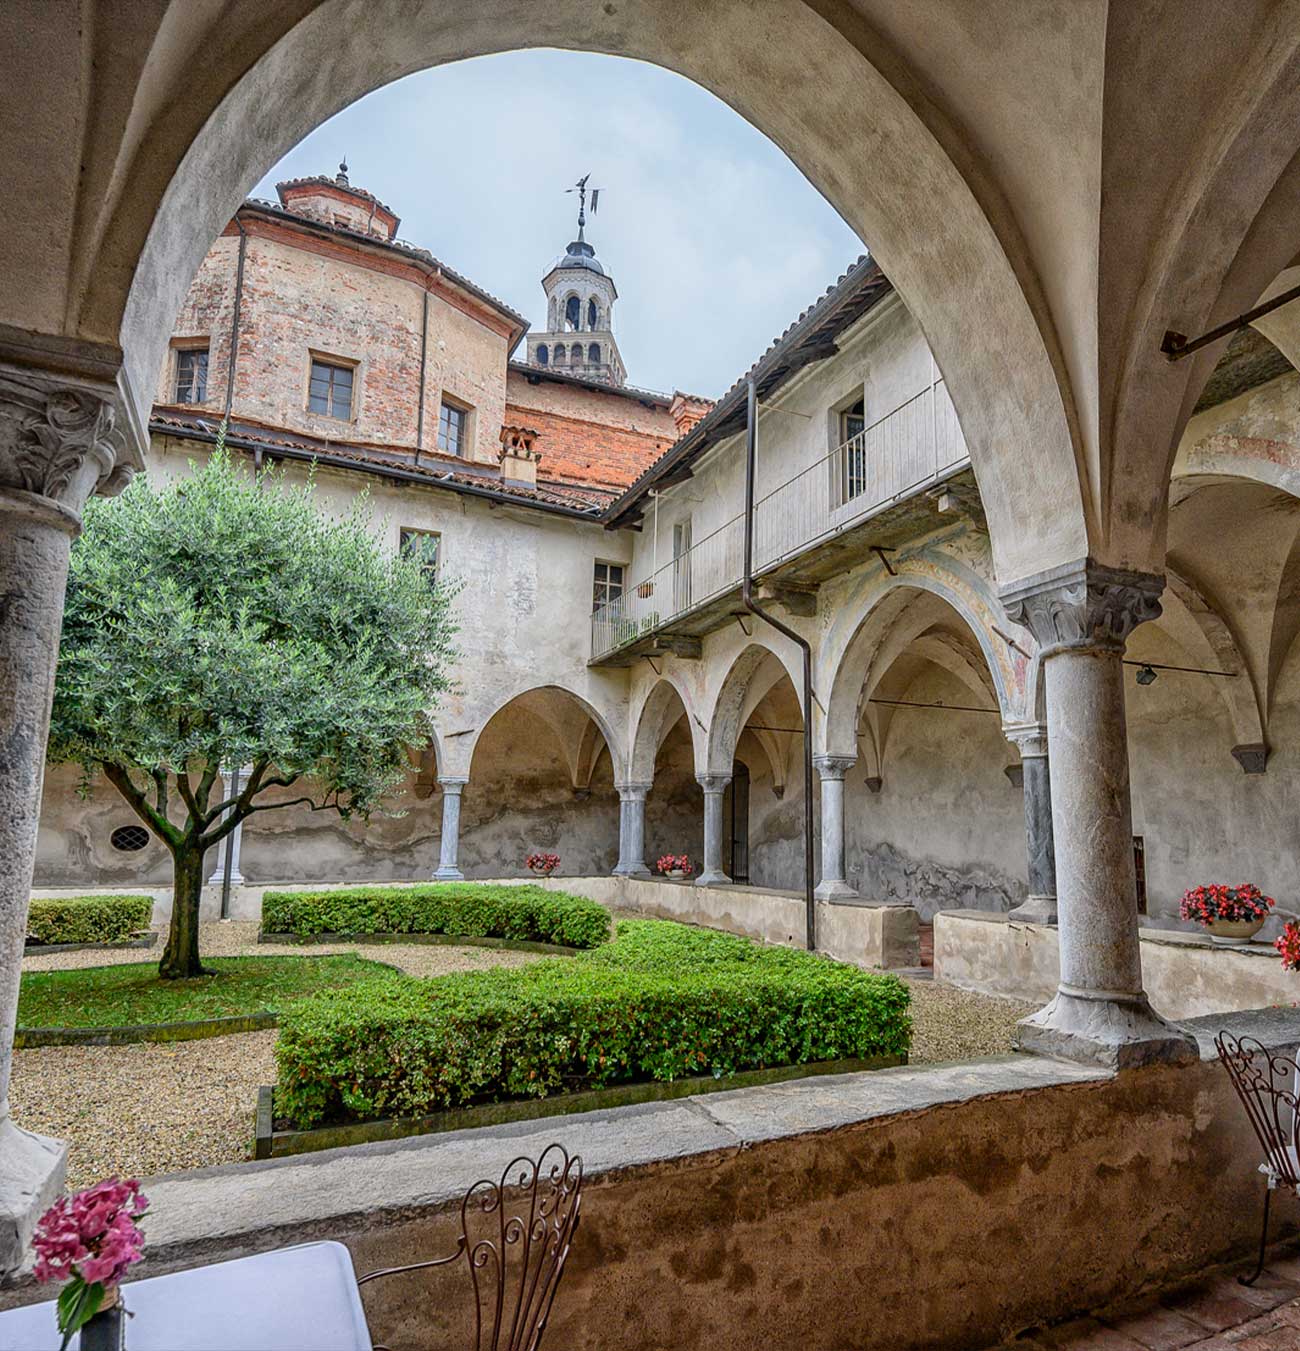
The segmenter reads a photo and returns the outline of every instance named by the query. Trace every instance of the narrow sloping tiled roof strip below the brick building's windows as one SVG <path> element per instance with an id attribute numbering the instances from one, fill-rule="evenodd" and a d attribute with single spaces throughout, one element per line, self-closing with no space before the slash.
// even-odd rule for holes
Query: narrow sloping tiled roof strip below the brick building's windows
<path id="1" fill-rule="evenodd" d="M 184 405 L 155 404 L 149 426 L 168 436 L 185 436 L 212 442 L 220 417 L 204 415 Z M 431 488 L 447 488 L 499 500 L 518 500 L 522 505 L 561 509 L 566 513 L 591 516 L 593 520 L 614 501 L 616 493 L 592 484 L 568 484 L 539 476 L 538 485 L 519 484 L 501 478 L 495 465 L 473 466 L 472 462 L 435 450 L 414 450 L 400 446 L 374 446 L 353 440 L 324 440 L 301 432 L 285 431 L 247 419 L 232 422 L 227 444 L 238 450 L 262 450 L 269 455 L 357 469 L 382 477 L 399 477 L 407 482 L 426 482 Z"/>

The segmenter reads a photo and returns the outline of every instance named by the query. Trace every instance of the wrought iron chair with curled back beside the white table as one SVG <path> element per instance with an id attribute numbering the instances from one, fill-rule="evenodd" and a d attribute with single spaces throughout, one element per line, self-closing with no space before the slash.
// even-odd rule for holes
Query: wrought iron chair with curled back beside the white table
<path id="1" fill-rule="evenodd" d="M 581 1158 L 549 1144 L 536 1163 L 512 1159 L 500 1182 L 484 1179 L 465 1193 L 450 1256 L 369 1271 L 357 1285 L 464 1259 L 474 1293 L 473 1351 L 538 1351 L 581 1202 Z"/>

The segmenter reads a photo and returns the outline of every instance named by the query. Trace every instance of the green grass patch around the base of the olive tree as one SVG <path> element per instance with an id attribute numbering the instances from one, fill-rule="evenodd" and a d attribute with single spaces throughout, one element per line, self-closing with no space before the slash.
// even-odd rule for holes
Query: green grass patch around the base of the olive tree
<path id="1" fill-rule="evenodd" d="M 219 957 L 215 975 L 162 981 L 157 962 L 26 971 L 18 996 L 19 1027 L 124 1027 L 185 1023 L 278 1011 L 293 1000 L 361 979 L 399 978 L 359 957 Z"/>

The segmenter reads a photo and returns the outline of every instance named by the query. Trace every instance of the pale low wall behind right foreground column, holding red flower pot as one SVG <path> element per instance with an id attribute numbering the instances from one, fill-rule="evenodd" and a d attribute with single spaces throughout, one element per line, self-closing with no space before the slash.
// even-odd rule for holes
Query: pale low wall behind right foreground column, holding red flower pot
<path id="1" fill-rule="evenodd" d="M 1200 934 L 1142 929 L 1142 978 L 1165 1017 L 1291 1005 L 1300 974 L 1270 943 L 1223 947 Z M 984 994 L 1046 1002 L 1061 978 L 1057 929 L 992 911 L 941 911 L 934 920 L 936 981 Z"/>

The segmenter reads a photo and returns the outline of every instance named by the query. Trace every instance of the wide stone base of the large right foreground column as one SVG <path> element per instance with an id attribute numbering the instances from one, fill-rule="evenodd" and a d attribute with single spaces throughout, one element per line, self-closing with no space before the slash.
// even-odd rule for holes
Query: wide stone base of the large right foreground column
<path id="1" fill-rule="evenodd" d="M 1099 1000 L 1057 990 L 1046 1008 L 1016 1024 L 1014 1044 L 1018 1051 L 1108 1070 L 1200 1059 L 1195 1038 L 1166 1023 L 1145 994 Z"/>

